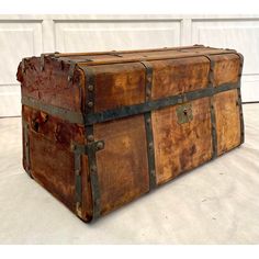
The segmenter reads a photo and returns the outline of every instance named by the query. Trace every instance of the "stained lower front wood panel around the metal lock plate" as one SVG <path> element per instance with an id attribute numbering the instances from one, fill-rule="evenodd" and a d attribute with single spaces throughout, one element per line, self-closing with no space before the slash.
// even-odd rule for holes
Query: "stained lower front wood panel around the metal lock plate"
<path id="1" fill-rule="evenodd" d="M 193 120 L 183 124 L 178 123 L 178 105 L 153 112 L 158 184 L 212 158 L 210 99 L 191 105 Z"/>

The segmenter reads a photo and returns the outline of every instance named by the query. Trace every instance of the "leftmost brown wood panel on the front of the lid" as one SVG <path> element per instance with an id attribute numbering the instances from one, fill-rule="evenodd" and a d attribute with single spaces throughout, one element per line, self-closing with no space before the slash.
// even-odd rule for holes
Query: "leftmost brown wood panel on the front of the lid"
<path id="1" fill-rule="evenodd" d="M 145 69 L 139 63 L 92 67 L 95 75 L 94 111 L 145 101 Z"/>

